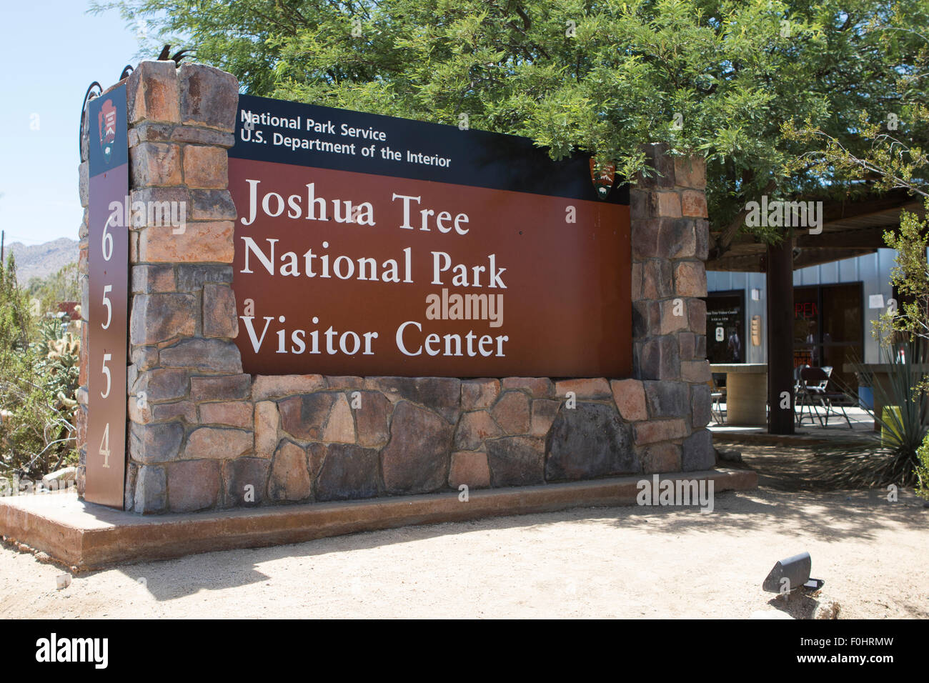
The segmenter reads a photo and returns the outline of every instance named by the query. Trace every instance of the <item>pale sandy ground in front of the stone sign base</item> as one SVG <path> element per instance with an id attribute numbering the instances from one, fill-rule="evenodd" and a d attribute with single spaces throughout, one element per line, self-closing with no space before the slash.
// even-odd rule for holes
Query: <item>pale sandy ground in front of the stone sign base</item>
<path id="1" fill-rule="evenodd" d="M 752 453 L 752 466 L 784 455 Z M 806 550 L 840 618 L 929 618 L 921 499 L 771 483 L 717 495 L 712 513 L 581 508 L 408 527 L 93 571 L 63 590 L 60 567 L 4 547 L 0 617 L 804 618 L 814 598 L 785 602 L 761 583 Z"/>

